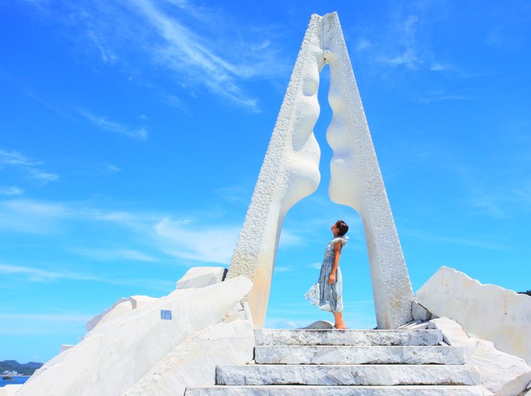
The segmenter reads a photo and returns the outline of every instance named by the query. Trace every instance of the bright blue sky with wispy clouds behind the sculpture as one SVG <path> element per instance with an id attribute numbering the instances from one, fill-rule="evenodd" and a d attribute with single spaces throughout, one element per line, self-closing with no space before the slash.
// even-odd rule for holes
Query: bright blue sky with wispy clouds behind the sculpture
<path id="1" fill-rule="evenodd" d="M 227 265 L 312 13 L 338 11 L 413 289 L 441 265 L 531 289 L 528 1 L 0 1 L 0 360 L 46 361 L 121 296 Z M 321 185 L 287 214 L 268 327 L 329 228 L 345 318 L 375 326 L 358 215 Z"/>

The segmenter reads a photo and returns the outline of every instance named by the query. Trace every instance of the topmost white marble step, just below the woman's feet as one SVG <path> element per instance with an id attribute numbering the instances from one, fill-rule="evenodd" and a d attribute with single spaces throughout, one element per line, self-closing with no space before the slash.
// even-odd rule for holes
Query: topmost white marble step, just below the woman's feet
<path id="1" fill-rule="evenodd" d="M 437 345 L 440 330 L 257 329 L 256 345 Z"/>

